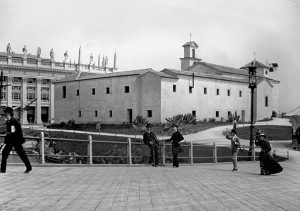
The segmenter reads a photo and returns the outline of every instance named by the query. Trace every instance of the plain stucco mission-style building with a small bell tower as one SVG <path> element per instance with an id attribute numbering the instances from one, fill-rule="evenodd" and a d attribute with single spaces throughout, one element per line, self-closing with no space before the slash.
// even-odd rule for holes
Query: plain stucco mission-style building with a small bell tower
<path id="1" fill-rule="evenodd" d="M 203 62 L 194 41 L 183 45 L 181 69 L 140 69 L 95 74 L 78 71 L 55 82 L 55 122 L 132 123 L 136 116 L 150 123 L 191 113 L 198 120 L 250 120 L 248 66 L 257 67 L 254 118 L 270 118 L 279 111 L 279 81 L 273 67 L 256 59 L 241 68 Z M 276 64 L 277 65 L 277 64 Z"/>

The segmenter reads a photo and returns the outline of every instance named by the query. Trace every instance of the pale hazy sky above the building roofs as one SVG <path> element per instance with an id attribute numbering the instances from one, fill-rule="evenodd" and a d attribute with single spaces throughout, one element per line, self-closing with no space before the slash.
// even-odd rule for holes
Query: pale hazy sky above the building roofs
<path id="1" fill-rule="evenodd" d="M 83 63 L 100 54 L 119 71 L 180 69 L 191 40 L 204 62 L 240 68 L 276 62 L 280 112 L 300 105 L 300 0 L 1 0 L 0 51 Z M 190 37 L 190 33 L 192 34 Z M 68 60 L 69 60 L 68 59 Z"/>

